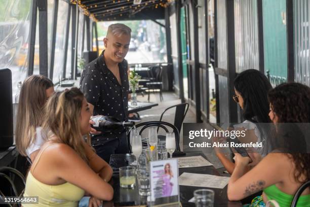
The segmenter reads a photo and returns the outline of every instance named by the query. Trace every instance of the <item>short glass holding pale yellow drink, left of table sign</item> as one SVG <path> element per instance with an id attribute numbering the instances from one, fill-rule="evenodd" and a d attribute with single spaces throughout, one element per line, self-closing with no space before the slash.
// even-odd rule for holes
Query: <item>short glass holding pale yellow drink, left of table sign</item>
<path id="1" fill-rule="evenodd" d="M 136 168 L 133 166 L 120 167 L 120 186 L 134 188 L 136 184 Z"/>

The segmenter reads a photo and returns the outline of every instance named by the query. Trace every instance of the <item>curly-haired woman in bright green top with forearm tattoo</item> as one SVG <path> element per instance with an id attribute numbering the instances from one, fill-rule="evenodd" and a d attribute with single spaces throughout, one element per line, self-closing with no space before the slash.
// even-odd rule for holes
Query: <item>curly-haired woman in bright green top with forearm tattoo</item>
<path id="1" fill-rule="evenodd" d="M 301 130 L 294 130 L 298 126 L 295 123 L 310 123 L 310 88 L 299 83 L 285 83 L 271 90 L 268 98 L 269 117 L 277 130 L 273 142 L 277 143 L 273 146 L 276 150 L 263 159 L 250 154 L 253 163 L 258 164 L 246 174 L 250 159 L 236 154 L 227 196 L 229 200 L 241 200 L 263 190 L 262 196 L 248 206 L 265 206 L 268 200 L 276 200 L 281 207 L 290 206 L 297 189 L 310 180 L 310 154 L 306 153 L 306 145 L 300 144 L 304 141 Z M 307 188 L 297 206 L 309 205 L 310 189 Z"/>

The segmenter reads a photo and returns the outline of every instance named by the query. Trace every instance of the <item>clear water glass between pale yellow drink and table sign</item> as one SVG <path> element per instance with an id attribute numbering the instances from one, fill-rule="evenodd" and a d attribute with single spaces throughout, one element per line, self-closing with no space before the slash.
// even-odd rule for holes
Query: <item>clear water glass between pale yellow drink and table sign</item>
<path id="1" fill-rule="evenodd" d="M 136 171 L 139 195 L 150 195 L 149 172 L 146 167 L 139 167 Z"/>

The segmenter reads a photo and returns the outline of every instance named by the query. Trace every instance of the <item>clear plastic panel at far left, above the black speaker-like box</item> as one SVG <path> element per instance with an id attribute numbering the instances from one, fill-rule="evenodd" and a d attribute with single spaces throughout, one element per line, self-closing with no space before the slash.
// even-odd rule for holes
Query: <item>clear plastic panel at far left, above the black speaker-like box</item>
<path id="1" fill-rule="evenodd" d="M 1 1 L 0 68 L 12 71 L 13 97 L 27 76 L 31 0 Z"/>

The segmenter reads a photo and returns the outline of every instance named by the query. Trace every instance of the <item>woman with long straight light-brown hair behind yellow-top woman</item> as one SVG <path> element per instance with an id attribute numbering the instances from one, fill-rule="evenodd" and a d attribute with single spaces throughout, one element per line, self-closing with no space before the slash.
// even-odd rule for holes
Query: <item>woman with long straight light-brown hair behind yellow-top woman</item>
<path id="1" fill-rule="evenodd" d="M 30 158 L 31 162 L 46 141 L 40 126 L 44 119 L 44 106 L 53 93 L 53 82 L 42 75 L 29 76 L 20 91 L 16 119 L 16 147 L 19 153 Z"/>

